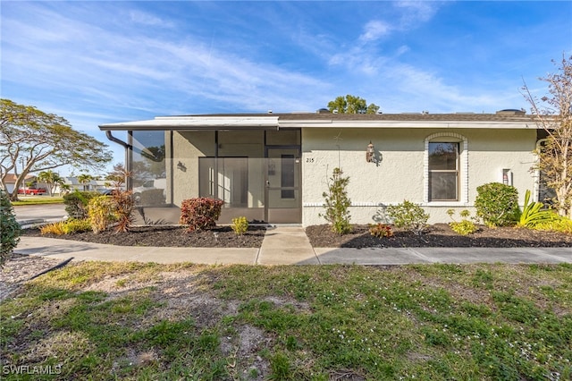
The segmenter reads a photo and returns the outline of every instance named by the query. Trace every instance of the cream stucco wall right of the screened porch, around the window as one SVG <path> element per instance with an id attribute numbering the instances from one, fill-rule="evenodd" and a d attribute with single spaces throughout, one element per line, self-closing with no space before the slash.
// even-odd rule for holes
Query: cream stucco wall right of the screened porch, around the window
<path id="1" fill-rule="evenodd" d="M 458 202 L 426 203 L 425 139 L 437 132 L 456 133 L 467 140 L 467 199 Z M 366 146 L 372 141 L 379 165 L 366 163 Z M 488 129 L 302 129 L 303 224 L 324 224 L 323 192 L 332 169 L 340 166 L 349 176 L 348 193 L 352 201 L 351 222 L 374 223 L 383 217 L 382 205 L 398 204 L 404 199 L 421 204 L 430 213 L 430 223 L 450 222 L 449 208 L 473 210 L 476 187 L 486 182 L 501 182 L 501 169 L 512 172 L 522 204 L 527 189 L 534 189 L 532 153 L 535 130 Z M 337 147 L 339 145 L 339 148 Z M 463 147 L 463 145 L 461 145 Z M 460 190 L 463 194 L 463 190 Z"/>

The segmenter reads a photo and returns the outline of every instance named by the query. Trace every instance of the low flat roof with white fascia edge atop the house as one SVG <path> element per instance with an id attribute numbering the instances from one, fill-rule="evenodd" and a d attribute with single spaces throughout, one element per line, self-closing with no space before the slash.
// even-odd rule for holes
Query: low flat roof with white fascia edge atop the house
<path id="1" fill-rule="evenodd" d="M 279 130 L 281 128 L 484 128 L 537 129 L 526 114 L 193 114 L 147 121 L 106 123 L 102 131 Z"/>

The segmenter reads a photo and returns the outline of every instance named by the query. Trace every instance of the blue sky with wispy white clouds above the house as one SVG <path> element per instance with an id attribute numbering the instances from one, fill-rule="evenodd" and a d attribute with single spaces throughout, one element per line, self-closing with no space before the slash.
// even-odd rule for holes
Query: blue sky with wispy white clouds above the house
<path id="1" fill-rule="evenodd" d="M 315 111 L 528 109 L 523 80 L 572 54 L 572 1 L 2 1 L 2 97 L 101 123 Z"/>

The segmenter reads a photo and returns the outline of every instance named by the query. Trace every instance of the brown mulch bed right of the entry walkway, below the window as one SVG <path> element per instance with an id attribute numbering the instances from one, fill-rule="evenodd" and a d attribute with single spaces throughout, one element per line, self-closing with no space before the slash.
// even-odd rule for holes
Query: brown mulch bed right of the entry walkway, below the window
<path id="1" fill-rule="evenodd" d="M 467 236 L 451 230 L 449 224 L 433 224 L 422 235 L 394 230 L 391 238 L 376 238 L 367 225 L 354 226 L 353 233 L 333 233 L 327 224 L 308 226 L 306 233 L 315 248 L 520 248 L 572 247 L 572 235 L 541 232 L 516 227 L 496 229 L 479 225 L 478 232 Z"/>

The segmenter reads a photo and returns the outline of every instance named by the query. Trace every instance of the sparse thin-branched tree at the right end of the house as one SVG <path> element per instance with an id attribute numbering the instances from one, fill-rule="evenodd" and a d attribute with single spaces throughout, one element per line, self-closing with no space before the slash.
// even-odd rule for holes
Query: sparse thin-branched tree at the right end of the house
<path id="1" fill-rule="evenodd" d="M 556 62 L 553 61 L 556 64 Z M 554 205 L 560 216 L 572 216 L 572 56 L 562 57 L 557 72 L 540 78 L 548 82 L 549 94 L 533 96 L 526 83 L 524 96 L 531 105 L 536 124 L 547 138 L 536 150 L 543 181 L 554 190 Z"/>

